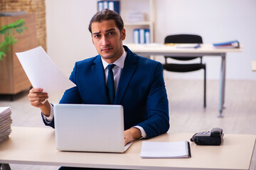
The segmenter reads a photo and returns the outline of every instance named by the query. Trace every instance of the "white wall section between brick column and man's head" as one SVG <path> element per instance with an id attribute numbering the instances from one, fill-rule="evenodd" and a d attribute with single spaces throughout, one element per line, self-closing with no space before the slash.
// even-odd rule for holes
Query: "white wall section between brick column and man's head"
<path id="1" fill-rule="evenodd" d="M 95 1 L 46 0 L 47 52 L 67 77 L 76 61 L 97 55 L 88 30 L 96 11 Z"/>

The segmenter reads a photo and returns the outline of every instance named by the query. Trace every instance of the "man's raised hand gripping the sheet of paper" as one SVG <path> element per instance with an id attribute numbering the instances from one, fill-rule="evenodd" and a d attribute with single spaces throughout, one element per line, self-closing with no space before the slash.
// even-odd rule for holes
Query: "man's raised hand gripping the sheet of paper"
<path id="1" fill-rule="evenodd" d="M 35 106 L 36 108 L 41 108 L 41 111 L 47 117 L 50 115 L 50 103 L 47 101 L 48 94 L 46 92 L 43 92 L 43 89 L 31 89 L 29 91 L 28 98 L 32 106 Z"/>

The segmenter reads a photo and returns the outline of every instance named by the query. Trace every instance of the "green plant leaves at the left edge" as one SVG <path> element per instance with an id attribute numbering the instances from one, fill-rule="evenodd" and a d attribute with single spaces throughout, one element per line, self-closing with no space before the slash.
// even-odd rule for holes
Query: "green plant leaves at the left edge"
<path id="1" fill-rule="evenodd" d="M 6 56 L 6 52 L 10 50 L 9 45 L 17 42 L 13 34 L 15 32 L 18 34 L 23 33 L 25 29 L 25 21 L 23 19 L 19 19 L 5 26 L 0 26 L 0 35 L 4 35 L 4 41 L 0 43 L 0 60 L 3 60 L 3 56 Z"/>

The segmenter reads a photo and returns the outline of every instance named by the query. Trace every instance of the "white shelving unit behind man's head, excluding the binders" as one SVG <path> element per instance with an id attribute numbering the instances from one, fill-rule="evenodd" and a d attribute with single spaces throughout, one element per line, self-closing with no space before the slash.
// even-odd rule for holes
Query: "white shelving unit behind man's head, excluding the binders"
<path id="1" fill-rule="evenodd" d="M 127 33 L 124 44 L 133 43 L 133 30 L 141 28 L 150 30 L 150 42 L 154 42 L 154 3 L 154 0 L 119 0 L 120 15 L 124 21 L 124 28 Z M 129 12 L 144 13 L 144 21 L 128 22 Z"/>

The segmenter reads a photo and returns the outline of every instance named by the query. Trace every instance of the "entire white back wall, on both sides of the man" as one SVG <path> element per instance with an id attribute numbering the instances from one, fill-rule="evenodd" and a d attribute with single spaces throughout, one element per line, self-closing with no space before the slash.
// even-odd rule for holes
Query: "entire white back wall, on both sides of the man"
<path id="1" fill-rule="evenodd" d="M 95 1 L 46 0 L 48 54 L 68 77 L 75 61 L 97 55 L 87 30 L 96 12 Z M 228 53 L 226 79 L 253 79 L 251 61 L 256 60 L 256 1 L 156 0 L 155 40 L 176 33 L 196 33 L 203 42 L 239 40 L 241 53 Z M 132 35 L 127 35 L 132 36 Z M 204 57 L 208 79 L 220 77 L 220 57 Z M 202 79 L 203 71 L 166 73 L 174 79 Z"/>

